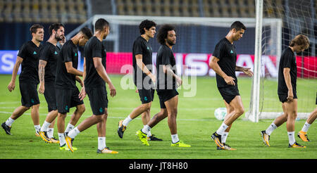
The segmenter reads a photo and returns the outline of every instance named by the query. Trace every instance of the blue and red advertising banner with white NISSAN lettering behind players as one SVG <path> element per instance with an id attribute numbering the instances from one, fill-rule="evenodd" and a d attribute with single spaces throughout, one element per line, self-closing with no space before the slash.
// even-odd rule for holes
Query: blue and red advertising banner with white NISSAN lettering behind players
<path id="1" fill-rule="evenodd" d="M 18 51 L 0 51 L 0 74 L 11 74 L 15 64 Z M 209 53 L 174 53 L 178 75 L 186 76 L 216 76 L 216 73 L 209 68 L 209 60 L 212 54 Z M 79 52 L 79 56 L 80 52 Z M 153 53 L 153 69 L 156 71 L 156 53 Z M 82 70 L 84 60 L 79 58 L 78 70 Z M 254 67 L 254 55 L 237 55 L 237 66 L 246 68 Z M 261 74 L 267 77 L 278 77 L 278 62 L 275 56 L 262 56 Z M 108 52 L 106 56 L 106 71 L 109 74 L 128 74 L 132 73 L 132 53 Z M 19 70 L 20 72 L 20 70 Z M 236 72 L 237 76 L 244 75 Z M 317 57 L 297 56 L 297 76 L 316 77 L 317 76 Z"/>

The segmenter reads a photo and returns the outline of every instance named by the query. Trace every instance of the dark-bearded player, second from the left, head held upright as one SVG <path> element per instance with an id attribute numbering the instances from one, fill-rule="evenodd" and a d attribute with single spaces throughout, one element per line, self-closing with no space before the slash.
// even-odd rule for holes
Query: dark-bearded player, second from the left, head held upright
<path id="1" fill-rule="evenodd" d="M 50 143 L 58 143 L 53 136 L 55 118 L 57 116 L 56 96 L 55 96 L 55 77 L 56 64 L 58 59 L 59 48 L 56 46 L 58 41 L 64 37 L 64 25 L 54 23 L 49 26 L 49 39 L 43 44 L 39 56 L 39 94 L 44 94 L 47 102 L 48 114 L 46 122 L 51 122 L 49 129 L 42 126 L 41 132 L 47 131 Z M 41 134 L 40 134 L 41 135 Z M 42 135 L 41 135 L 42 136 Z M 43 137 L 42 137 L 43 138 Z"/>

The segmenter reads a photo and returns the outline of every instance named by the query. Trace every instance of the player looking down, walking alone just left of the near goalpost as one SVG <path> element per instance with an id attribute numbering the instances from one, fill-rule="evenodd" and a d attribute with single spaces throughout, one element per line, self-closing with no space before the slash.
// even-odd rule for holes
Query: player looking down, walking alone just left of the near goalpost
<path id="1" fill-rule="evenodd" d="M 216 72 L 217 87 L 228 111 L 219 129 L 211 135 L 211 139 L 215 141 L 218 149 L 235 150 L 228 146 L 225 141 L 232 123 L 244 113 L 235 71 L 244 72 L 250 77 L 253 75 L 250 68 L 242 68 L 235 64 L 237 53 L 233 42 L 241 39 L 246 29 L 240 21 L 232 23 L 230 31 L 225 38 L 216 44 L 209 63 L 209 66 Z"/>

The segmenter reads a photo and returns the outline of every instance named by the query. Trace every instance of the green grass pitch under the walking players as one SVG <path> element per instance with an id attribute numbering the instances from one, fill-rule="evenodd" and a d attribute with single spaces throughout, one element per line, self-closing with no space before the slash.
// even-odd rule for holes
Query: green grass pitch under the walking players
<path id="1" fill-rule="evenodd" d="M 186 98 L 183 95 L 185 89 L 180 89 L 178 105 L 178 136 L 180 140 L 192 145 L 192 148 L 171 147 L 170 130 L 168 129 L 167 119 L 163 120 L 151 130 L 163 141 L 149 141 L 151 146 L 143 146 L 135 136 L 135 132 L 143 127 L 141 116 L 132 120 L 125 131 L 123 139 L 117 134 L 118 121 L 124 119 L 139 104 L 139 96 L 135 89 L 123 90 L 120 87 L 120 80 L 123 76 L 111 75 L 111 80 L 116 87 L 117 96 L 111 98 L 108 95 L 108 120 L 106 128 L 106 145 L 112 150 L 117 150 L 116 155 L 99 154 L 97 155 L 97 129 L 93 127 L 80 133 L 73 146 L 77 147 L 74 153 L 66 150 L 59 150 L 58 144 L 44 143 L 40 137 L 35 136 L 35 129 L 30 117 L 30 110 L 22 115 L 13 123 L 11 133 L 13 136 L 6 135 L 3 129 L 0 129 L 0 158 L 1 159 L 302 159 L 317 158 L 317 126 L 312 124 L 309 129 L 309 139 L 311 142 L 304 143 L 300 139 L 296 140 L 307 146 L 307 148 L 287 148 L 288 137 L 286 124 L 275 129 L 271 135 L 271 147 L 264 146 L 260 132 L 266 129 L 273 120 L 260 120 L 259 123 L 253 123 L 242 120 L 244 115 L 232 124 L 227 143 L 237 150 L 216 150 L 216 144 L 211 140 L 211 134 L 220 126 L 221 122 L 216 120 L 213 111 L 219 107 L 225 107 L 223 100 L 216 88 L 216 79 L 214 77 L 197 78 L 197 94 L 192 98 Z M 15 90 L 10 93 L 6 89 L 10 82 L 11 75 L 0 75 L 0 122 L 4 122 L 10 117 L 15 108 L 20 105 L 20 91 L 18 79 L 15 83 Z M 308 91 L 306 82 L 315 84 L 316 79 L 298 80 L 298 96 L 309 99 L 314 103 L 314 92 Z M 274 86 L 274 84 L 273 84 Z M 108 86 L 107 86 L 108 87 Z M 244 104 L 245 111 L 249 108 L 251 94 L 251 79 L 239 78 L 240 95 Z M 276 87 L 272 87 L 275 92 Z M 306 91 L 302 91 L 306 90 Z M 306 95 L 304 95 L 304 93 Z M 302 94 L 302 95 L 301 95 Z M 270 96 L 271 97 L 271 96 Z M 275 98 L 278 99 L 275 94 Z M 47 105 L 43 95 L 39 94 L 39 122 L 45 120 L 47 114 Z M 160 110 L 158 96 L 155 94 L 154 102 L 151 107 L 151 117 Z M 265 98 L 266 99 L 266 98 Z M 80 122 L 92 115 L 88 97 L 84 100 L 86 111 L 80 118 Z M 280 103 L 276 105 L 281 107 Z M 316 105 L 299 104 L 309 106 L 311 111 Z M 70 115 L 75 108 L 70 109 L 66 124 L 70 120 Z M 299 120 L 295 124 L 295 134 L 299 132 L 305 120 Z M 316 122 L 315 122 L 316 123 Z M 57 138 L 57 127 L 55 124 L 54 136 Z"/>

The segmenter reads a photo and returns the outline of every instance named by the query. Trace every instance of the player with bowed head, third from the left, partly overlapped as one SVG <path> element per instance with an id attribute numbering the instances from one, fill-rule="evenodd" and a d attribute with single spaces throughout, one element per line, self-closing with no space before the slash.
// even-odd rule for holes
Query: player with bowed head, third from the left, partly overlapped
<path id="1" fill-rule="evenodd" d="M 82 113 L 85 112 L 84 102 L 79 98 L 80 91 L 76 87 L 76 80 L 77 82 L 80 82 L 82 87 L 84 86 L 84 83 L 80 77 L 78 77 L 82 76 L 83 72 L 77 70 L 78 51 L 76 45 L 85 46 L 90 37 L 92 37 L 92 31 L 87 27 L 83 27 L 74 37 L 66 41 L 58 56 L 55 87 L 58 110 L 57 129 L 61 150 L 68 150 L 65 136 L 63 135 L 64 132 L 67 134 L 73 129 L 82 116 Z M 85 89 L 82 88 L 82 91 L 85 93 Z M 85 94 L 83 97 L 85 97 Z M 73 107 L 76 107 L 76 110 L 70 118 L 70 122 L 65 130 L 66 115 L 69 113 L 70 108 Z M 48 127 L 49 124 L 51 124 L 51 122 L 45 121 L 42 125 L 44 132 L 40 132 L 42 139 L 46 142 L 50 142 L 45 135 L 45 128 Z"/>

